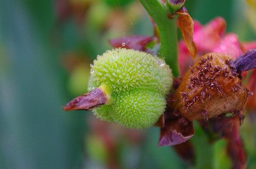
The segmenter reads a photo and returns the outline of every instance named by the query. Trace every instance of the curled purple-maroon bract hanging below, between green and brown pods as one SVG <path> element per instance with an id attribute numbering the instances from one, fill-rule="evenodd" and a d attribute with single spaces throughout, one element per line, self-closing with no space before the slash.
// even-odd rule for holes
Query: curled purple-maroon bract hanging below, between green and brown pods
<path id="1" fill-rule="evenodd" d="M 193 122 L 181 117 L 180 113 L 167 109 L 164 117 L 165 126 L 160 128 L 159 143 L 157 146 L 181 144 L 194 136 Z"/>

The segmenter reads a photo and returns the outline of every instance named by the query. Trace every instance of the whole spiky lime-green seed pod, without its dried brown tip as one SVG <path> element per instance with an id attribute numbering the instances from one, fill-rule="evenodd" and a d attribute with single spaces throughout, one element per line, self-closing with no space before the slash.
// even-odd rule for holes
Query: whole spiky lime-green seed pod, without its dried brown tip
<path id="1" fill-rule="evenodd" d="M 147 128 L 163 114 L 172 70 L 163 59 L 125 48 L 107 51 L 91 66 L 88 90 L 104 88 L 109 101 L 93 112 L 129 128 Z"/>

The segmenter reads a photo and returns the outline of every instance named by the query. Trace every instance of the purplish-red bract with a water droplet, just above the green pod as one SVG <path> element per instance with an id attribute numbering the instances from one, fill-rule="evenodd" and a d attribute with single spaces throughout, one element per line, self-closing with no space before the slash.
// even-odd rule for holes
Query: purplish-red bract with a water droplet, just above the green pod
<path id="1" fill-rule="evenodd" d="M 127 49 L 134 49 L 138 51 L 145 51 L 145 46 L 153 40 L 152 36 L 134 35 L 130 37 L 121 37 L 116 39 L 109 39 L 109 43 L 113 47 L 121 47 Z"/>

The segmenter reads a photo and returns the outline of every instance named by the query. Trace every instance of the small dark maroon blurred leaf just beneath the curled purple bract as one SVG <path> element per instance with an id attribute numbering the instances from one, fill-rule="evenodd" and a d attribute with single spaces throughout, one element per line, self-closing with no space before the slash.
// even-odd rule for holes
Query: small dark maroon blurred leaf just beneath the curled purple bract
<path id="1" fill-rule="evenodd" d="M 185 143 L 173 145 L 173 149 L 176 153 L 187 163 L 193 164 L 195 160 L 195 150 L 190 140 Z"/>

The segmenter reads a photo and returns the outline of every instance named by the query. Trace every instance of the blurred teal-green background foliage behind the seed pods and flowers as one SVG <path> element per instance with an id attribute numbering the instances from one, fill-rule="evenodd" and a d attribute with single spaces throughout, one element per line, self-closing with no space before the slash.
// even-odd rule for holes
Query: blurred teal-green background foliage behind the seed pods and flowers
<path id="1" fill-rule="evenodd" d="M 227 32 L 256 39 L 245 1 L 185 7 L 202 24 L 222 16 Z M 127 130 L 61 109 L 87 92 L 89 64 L 111 49 L 108 39 L 132 34 L 153 34 L 135 0 L 0 1 L 0 168 L 190 168 L 172 148 L 156 148 L 159 128 Z M 255 125 L 246 119 L 241 128 L 249 168 L 256 168 Z M 210 145 L 195 127 L 195 168 L 230 167 L 225 141 Z"/>

